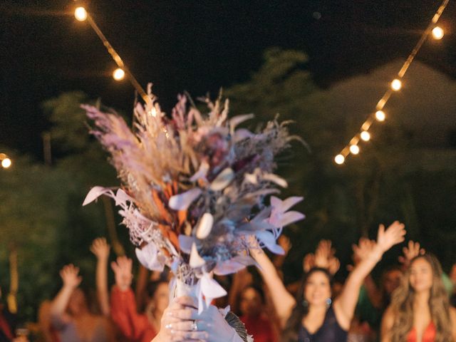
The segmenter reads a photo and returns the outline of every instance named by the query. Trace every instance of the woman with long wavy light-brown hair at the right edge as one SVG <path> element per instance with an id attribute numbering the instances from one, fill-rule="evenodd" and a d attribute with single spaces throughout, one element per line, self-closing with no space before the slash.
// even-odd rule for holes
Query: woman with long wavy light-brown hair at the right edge
<path id="1" fill-rule="evenodd" d="M 393 292 L 381 328 L 382 342 L 455 342 L 456 309 L 432 254 L 415 257 Z"/>

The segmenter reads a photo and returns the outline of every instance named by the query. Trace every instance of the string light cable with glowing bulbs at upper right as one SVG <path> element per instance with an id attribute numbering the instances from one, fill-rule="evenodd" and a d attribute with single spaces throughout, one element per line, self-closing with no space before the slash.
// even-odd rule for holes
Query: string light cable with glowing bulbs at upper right
<path id="1" fill-rule="evenodd" d="M 430 35 L 431 32 L 435 33 L 433 30 L 438 28 L 438 26 L 435 25 L 437 24 L 437 21 L 440 19 L 440 16 L 442 16 L 442 13 L 449 2 L 450 0 L 442 1 L 442 4 L 440 4 L 439 8 L 437 9 L 437 12 L 432 17 L 432 21 L 423 32 L 420 40 L 415 45 L 408 58 L 405 60 L 402 68 L 400 68 L 400 71 L 398 72 L 398 77 L 391 82 L 390 88 L 388 88 L 388 90 L 385 91 L 385 94 L 382 98 L 380 98 L 377 105 L 375 106 L 375 113 L 371 113 L 368 116 L 367 120 L 363 123 L 363 125 L 361 125 L 361 130 L 353 138 L 351 138 L 348 145 L 346 145 L 346 147 L 343 147 L 343 150 L 341 150 L 341 152 L 338 155 L 336 155 L 336 157 L 334 157 L 334 161 L 336 162 L 336 164 L 343 164 L 343 162 L 345 162 L 346 160 L 346 157 L 350 154 L 358 155 L 358 143 L 360 142 L 360 140 L 368 141 L 371 138 L 371 134 L 368 132 L 369 128 L 371 128 L 371 125 L 373 125 L 375 121 L 382 122 L 385 120 L 385 113 L 383 112 L 383 108 L 385 108 L 385 105 L 390 99 L 390 96 L 393 94 L 393 92 L 400 90 L 402 86 L 401 80 L 403 79 L 405 73 L 408 71 L 408 68 L 415 59 L 415 56 L 417 55 L 418 51 L 420 51 L 420 48 L 425 43 L 427 37 Z M 439 30 L 437 32 L 437 35 L 435 36 L 436 39 L 440 39 L 443 36 L 441 28 L 438 29 Z"/>

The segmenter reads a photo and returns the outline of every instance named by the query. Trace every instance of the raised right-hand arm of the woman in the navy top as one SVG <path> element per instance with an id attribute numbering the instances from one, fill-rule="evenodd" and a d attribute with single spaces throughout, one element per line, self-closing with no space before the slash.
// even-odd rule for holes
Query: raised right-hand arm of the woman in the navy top
<path id="1" fill-rule="evenodd" d="M 398 221 L 385 230 L 383 224 L 378 228 L 377 243 L 372 245 L 371 250 L 366 251 L 363 259 L 355 266 L 348 275 L 345 286 L 340 296 L 334 301 L 334 311 L 338 323 L 342 328 L 350 328 L 351 319 L 355 314 L 356 302 L 364 279 L 371 273 L 374 266 L 380 261 L 383 253 L 395 244 L 404 241 L 404 225 Z"/>

